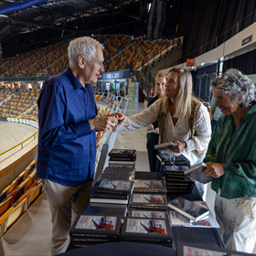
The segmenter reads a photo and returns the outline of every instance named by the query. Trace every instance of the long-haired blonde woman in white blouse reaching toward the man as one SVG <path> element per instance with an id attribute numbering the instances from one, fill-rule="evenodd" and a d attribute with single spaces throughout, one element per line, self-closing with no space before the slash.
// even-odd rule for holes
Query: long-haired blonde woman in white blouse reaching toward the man
<path id="1" fill-rule="evenodd" d="M 203 161 L 210 140 L 211 128 L 207 107 L 192 96 L 192 77 L 183 67 L 169 70 L 165 97 L 155 101 L 143 112 L 127 117 L 123 130 L 139 129 L 158 121 L 159 143 L 176 142 L 174 153 L 185 155 L 191 165 Z M 205 189 L 197 188 L 205 199 Z"/>

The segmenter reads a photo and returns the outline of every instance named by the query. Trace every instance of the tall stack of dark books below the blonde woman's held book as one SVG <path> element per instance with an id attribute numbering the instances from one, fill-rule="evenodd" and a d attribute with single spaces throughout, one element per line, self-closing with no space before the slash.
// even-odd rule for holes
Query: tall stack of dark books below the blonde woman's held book
<path id="1" fill-rule="evenodd" d="M 191 193 L 195 181 L 185 175 L 186 165 L 165 165 L 165 186 L 169 193 Z"/>

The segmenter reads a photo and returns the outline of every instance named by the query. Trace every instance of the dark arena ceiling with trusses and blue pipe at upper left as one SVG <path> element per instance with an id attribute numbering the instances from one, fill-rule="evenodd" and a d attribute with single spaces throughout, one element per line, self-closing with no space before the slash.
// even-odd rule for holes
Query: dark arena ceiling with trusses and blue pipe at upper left
<path id="1" fill-rule="evenodd" d="M 2 48 L 30 47 L 143 24 L 151 0 L 1 0 Z M 24 3 L 27 8 L 20 9 Z M 129 29 L 128 29 L 129 30 Z M 51 43 L 52 43 L 51 42 Z M 37 46 L 38 47 L 38 46 Z"/>

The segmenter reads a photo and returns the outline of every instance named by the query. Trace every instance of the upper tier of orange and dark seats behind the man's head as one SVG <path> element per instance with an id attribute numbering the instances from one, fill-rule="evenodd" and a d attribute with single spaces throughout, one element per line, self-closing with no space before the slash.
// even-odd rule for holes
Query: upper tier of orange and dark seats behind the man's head
<path id="1" fill-rule="evenodd" d="M 127 35 L 95 36 L 105 49 L 104 69 L 117 71 L 138 69 L 149 59 L 154 58 L 170 47 L 172 40 L 144 40 L 143 37 L 131 39 Z M 67 48 L 69 41 L 31 51 L 12 59 L 0 61 L 2 77 L 52 76 L 66 69 L 69 64 Z"/>

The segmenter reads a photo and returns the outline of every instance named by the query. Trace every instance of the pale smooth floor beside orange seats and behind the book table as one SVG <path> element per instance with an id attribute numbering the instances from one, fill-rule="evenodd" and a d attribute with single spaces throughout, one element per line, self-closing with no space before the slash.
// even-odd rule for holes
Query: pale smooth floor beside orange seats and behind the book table
<path id="1" fill-rule="evenodd" d="M 127 115 L 142 110 L 144 110 L 143 103 L 130 102 Z M 144 131 L 145 128 L 133 132 L 118 132 L 114 144 L 115 148 L 137 150 L 137 171 L 149 171 Z M 207 203 L 212 212 L 214 200 L 215 192 L 208 187 Z M 43 193 L 0 241 L 0 255 L 50 255 L 50 237 L 51 222 L 48 199 Z M 256 252 L 255 248 L 253 252 Z"/>

